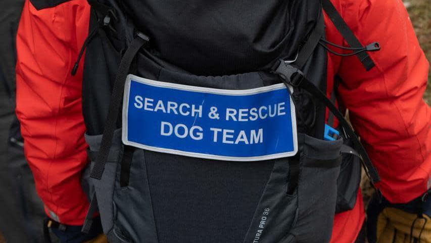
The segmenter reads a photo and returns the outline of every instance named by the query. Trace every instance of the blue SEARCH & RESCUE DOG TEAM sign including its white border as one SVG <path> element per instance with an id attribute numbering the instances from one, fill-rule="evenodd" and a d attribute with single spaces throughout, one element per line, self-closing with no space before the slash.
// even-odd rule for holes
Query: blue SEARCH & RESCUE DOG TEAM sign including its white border
<path id="1" fill-rule="evenodd" d="M 128 75 L 123 143 L 151 151 L 231 161 L 293 156 L 295 107 L 283 84 L 220 90 Z"/>

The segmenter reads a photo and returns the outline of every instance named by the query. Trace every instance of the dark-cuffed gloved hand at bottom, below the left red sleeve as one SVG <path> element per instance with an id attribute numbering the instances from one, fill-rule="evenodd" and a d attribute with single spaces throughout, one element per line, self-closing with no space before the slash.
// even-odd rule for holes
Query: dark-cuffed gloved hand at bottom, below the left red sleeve
<path id="1" fill-rule="evenodd" d="M 63 225 L 52 219 L 45 219 L 44 222 L 45 241 L 51 243 L 49 229 L 60 239 L 61 243 L 108 243 L 108 239 L 103 234 L 100 217 L 93 219 L 88 233 L 82 233 L 82 226 Z"/>

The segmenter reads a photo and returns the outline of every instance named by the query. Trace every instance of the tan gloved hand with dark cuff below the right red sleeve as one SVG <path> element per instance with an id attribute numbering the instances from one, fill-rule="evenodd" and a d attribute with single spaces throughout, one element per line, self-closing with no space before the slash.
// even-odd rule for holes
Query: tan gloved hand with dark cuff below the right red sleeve
<path id="1" fill-rule="evenodd" d="M 391 204 L 376 194 L 367 209 L 369 243 L 431 243 L 431 195 Z"/>

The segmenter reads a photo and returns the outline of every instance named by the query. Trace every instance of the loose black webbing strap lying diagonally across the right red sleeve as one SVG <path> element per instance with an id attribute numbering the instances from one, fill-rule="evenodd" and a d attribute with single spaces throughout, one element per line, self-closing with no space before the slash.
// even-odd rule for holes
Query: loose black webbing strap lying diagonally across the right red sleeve
<path id="1" fill-rule="evenodd" d="M 341 35 L 344 37 L 344 39 L 346 39 L 346 42 L 347 42 L 347 44 L 349 44 L 350 47 L 352 47 L 352 48 L 364 48 L 362 46 L 362 44 L 359 42 L 358 38 L 355 36 L 355 34 L 349 28 L 347 23 L 340 16 L 340 13 L 332 5 L 330 0 L 322 0 L 322 7 L 323 7 L 323 10 L 328 15 L 328 17 L 330 18 L 330 20 L 332 21 L 332 23 L 335 25 L 335 27 L 338 29 L 338 31 L 341 33 Z M 364 65 L 364 67 L 367 71 L 374 67 L 375 64 L 371 60 L 371 58 L 367 52 L 359 52 L 356 54 L 356 56 L 362 62 L 362 65 Z M 298 67 L 301 67 L 301 66 L 298 66 Z"/>

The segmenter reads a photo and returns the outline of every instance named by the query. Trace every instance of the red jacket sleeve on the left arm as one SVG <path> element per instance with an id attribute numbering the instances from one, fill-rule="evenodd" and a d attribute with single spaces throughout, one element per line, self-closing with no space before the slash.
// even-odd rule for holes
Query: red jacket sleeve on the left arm
<path id="1" fill-rule="evenodd" d="M 80 184 L 87 165 L 82 64 L 70 74 L 88 21 L 85 0 L 39 11 L 27 0 L 17 34 L 16 112 L 25 155 L 46 213 L 68 225 L 81 225 L 88 208 Z"/>

